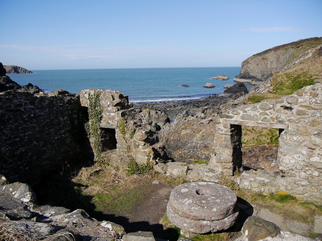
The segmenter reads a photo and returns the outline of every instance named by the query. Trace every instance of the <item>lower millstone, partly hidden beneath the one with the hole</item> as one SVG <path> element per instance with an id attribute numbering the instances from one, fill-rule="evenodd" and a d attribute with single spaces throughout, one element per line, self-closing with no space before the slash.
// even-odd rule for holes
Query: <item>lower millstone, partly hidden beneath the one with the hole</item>
<path id="1" fill-rule="evenodd" d="M 169 203 L 166 208 L 166 213 L 168 219 L 172 224 L 181 229 L 197 234 L 204 234 L 208 232 L 216 232 L 219 230 L 228 229 L 234 225 L 235 220 L 237 219 L 239 214 L 238 212 L 235 212 L 224 219 L 214 221 L 189 219 L 183 217 L 181 214 L 174 212 Z"/>

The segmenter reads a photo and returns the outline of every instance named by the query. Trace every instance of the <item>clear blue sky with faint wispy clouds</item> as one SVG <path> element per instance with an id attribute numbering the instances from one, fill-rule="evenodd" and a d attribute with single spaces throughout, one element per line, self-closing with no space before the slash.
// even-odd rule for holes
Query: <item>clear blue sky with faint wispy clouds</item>
<path id="1" fill-rule="evenodd" d="M 0 62 L 27 69 L 240 66 L 322 36 L 322 1 L 0 0 Z"/>

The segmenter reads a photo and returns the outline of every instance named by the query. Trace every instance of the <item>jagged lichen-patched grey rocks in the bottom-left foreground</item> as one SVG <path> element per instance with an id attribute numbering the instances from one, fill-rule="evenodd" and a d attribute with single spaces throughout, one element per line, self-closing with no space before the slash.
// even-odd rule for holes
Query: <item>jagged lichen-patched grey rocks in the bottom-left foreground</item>
<path id="1" fill-rule="evenodd" d="M 39 206 L 31 187 L 19 182 L 0 186 L 0 218 L 1 237 L 24 240 L 122 240 L 125 234 L 122 226 L 92 219 L 82 209 Z"/>

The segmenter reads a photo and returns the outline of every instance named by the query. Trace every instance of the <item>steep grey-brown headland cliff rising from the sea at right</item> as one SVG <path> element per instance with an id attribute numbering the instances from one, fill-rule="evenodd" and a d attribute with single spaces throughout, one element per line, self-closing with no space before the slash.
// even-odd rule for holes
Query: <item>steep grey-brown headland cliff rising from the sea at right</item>
<path id="1" fill-rule="evenodd" d="M 314 58 L 322 45 L 322 38 L 298 40 L 254 54 L 242 62 L 242 69 L 234 81 L 258 85 L 307 58 Z"/>

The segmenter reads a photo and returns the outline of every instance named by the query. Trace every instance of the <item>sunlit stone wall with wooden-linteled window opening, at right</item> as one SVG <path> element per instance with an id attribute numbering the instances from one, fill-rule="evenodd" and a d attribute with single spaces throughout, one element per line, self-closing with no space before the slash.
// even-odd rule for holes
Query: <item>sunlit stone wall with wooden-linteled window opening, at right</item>
<path id="1" fill-rule="evenodd" d="M 280 172 L 241 168 L 242 175 L 236 180 L 242 188 L 256 192 L 285 191 L 301 200 L 322 203 L 322 79 L 315 82 L 281 99 L 243 105 L 221 114 L 209 166 L 217 174 L 231 175 L 235 166 L 242 166 L 234 158 L 236 125 L 279 128 L 276 165 Z"/>

